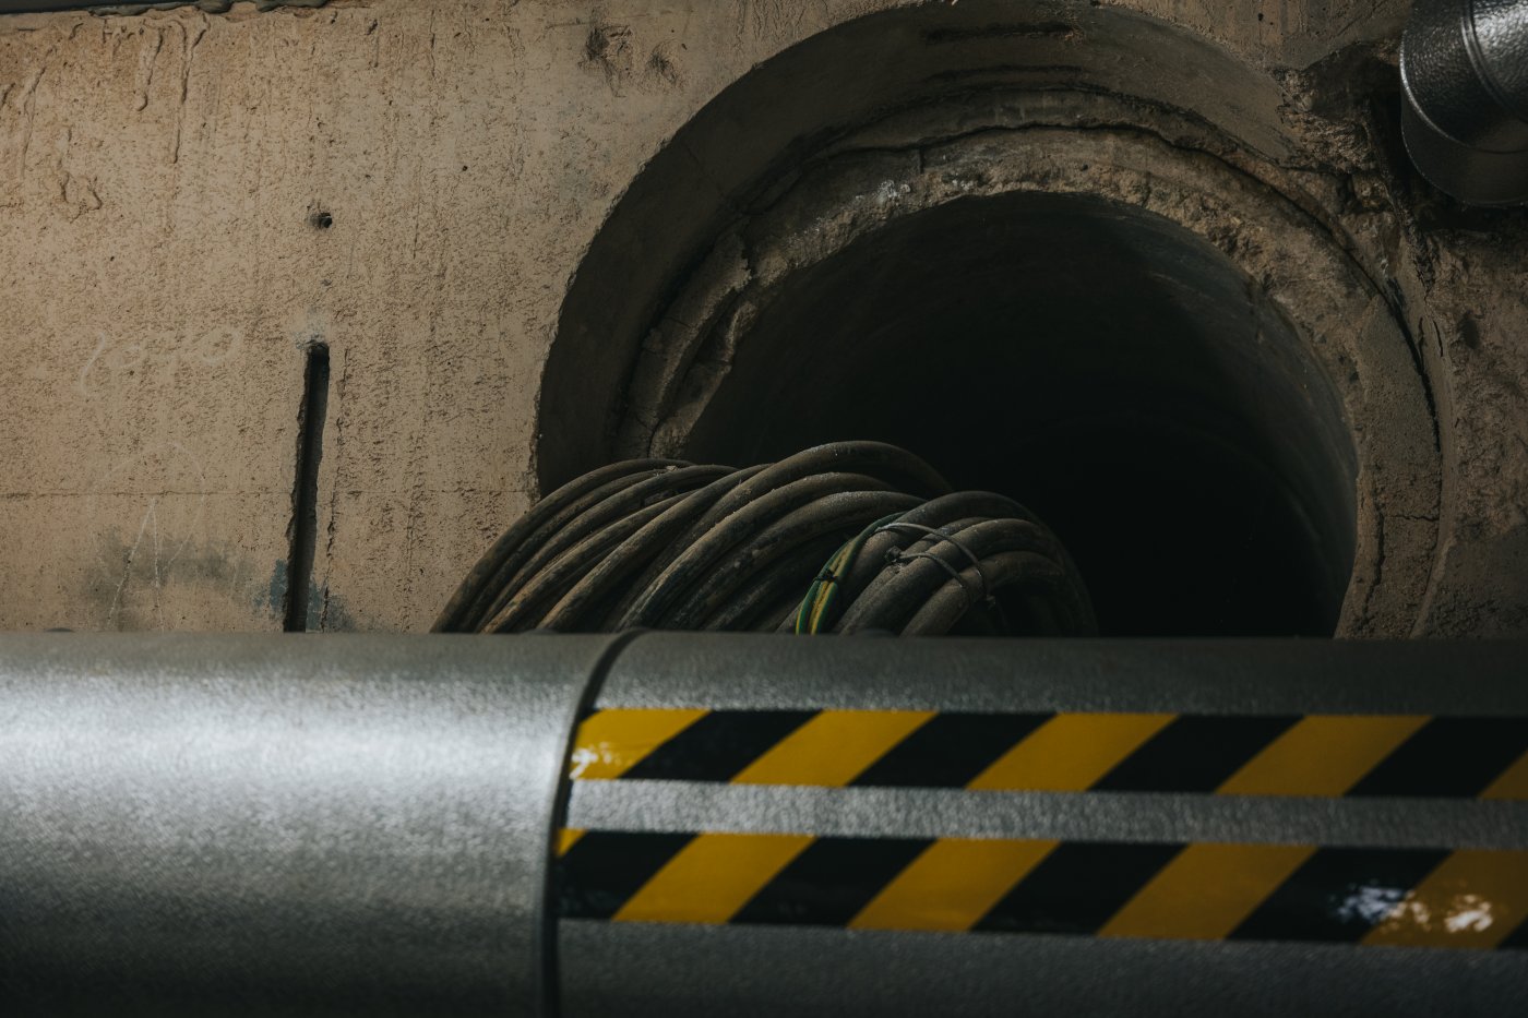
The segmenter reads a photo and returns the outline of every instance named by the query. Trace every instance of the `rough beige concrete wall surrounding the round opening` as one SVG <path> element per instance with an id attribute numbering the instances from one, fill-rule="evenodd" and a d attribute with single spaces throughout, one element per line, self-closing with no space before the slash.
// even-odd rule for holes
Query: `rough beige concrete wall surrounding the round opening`
<path id="1" fill-rule="evenodd" d="M 212 6 L 0 17 L 0 628 L 280 628 L 315 344 L 310 625 L 426 628 L 535 495 L 559 310 L 642 167 L 756 64 L 918 5 Z M 1280 116 L 1342 162 L 1322 61 L 1384 53 L 1407 5 L 1117 6 L 1282 83 Z M 1395 191 L 1366 159 L 1329 188 L 1355 208 Z M 1352 222 L 1421 269 L 1395 289 L 1445 524 L 1418 630 L 1528 633 L 1525 251 L 1497 235 L 1525 231 L 1413 212 Z"/>

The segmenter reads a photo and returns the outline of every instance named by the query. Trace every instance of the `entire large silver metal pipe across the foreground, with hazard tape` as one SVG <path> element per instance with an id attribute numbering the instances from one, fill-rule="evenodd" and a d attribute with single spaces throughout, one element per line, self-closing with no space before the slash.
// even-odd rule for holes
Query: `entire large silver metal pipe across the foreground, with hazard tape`
<path id="1" fill-rule="evenodd" d="M 0 1012 L 1511 1013 L 1523 651 L 5 637 Z"/>

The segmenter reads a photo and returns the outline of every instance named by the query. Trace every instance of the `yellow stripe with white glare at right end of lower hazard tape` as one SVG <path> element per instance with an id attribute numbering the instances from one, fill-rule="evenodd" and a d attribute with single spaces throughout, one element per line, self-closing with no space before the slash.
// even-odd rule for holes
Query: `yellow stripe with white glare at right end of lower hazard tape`
<path id="1" fill-rule="evenodd" d="M 1456 851 L 1363 939 L 1407 948 L 1494 948 L 1528 916 L 1528 851 Z"/>

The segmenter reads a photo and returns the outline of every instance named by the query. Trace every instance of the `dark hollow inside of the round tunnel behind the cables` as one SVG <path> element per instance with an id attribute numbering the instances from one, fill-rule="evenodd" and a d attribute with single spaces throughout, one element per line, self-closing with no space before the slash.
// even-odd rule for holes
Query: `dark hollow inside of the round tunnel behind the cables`
<path id="1" fill-rule="evenodd" d="M 903 445 L 1057 532 L 1111 636 L 1331 636 L 1357 465 L 1264 287 L 1094 196 L 967 197 L 793 272 L 685 442 L 755 463 Z"/>

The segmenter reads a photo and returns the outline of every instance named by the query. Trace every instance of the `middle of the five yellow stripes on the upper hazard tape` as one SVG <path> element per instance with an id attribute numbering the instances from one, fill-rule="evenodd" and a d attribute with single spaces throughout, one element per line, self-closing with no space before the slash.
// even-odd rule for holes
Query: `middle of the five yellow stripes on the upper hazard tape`
<path id="1" fill-rule="evenodd" d="M 1082 792 L 1174 714 L 1057 714 L 967 784 L 986 792 Z"/>

